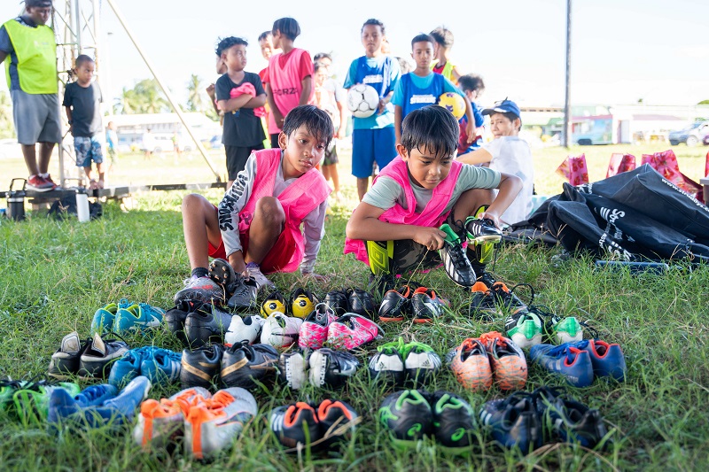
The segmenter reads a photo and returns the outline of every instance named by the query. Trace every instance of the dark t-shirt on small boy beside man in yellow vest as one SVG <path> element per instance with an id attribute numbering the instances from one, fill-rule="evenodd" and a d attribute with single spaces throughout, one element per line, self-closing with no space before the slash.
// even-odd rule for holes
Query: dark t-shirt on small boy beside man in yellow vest
<path id="1" fill-rule="evenodd" d="M 91 137 L 99 133 L 104 124 L 101 119 L 101 89 L 96 82 L 82 87 L 78 82 L 66 84 L 63 106 L 72 107 L 72 135 Z"/>

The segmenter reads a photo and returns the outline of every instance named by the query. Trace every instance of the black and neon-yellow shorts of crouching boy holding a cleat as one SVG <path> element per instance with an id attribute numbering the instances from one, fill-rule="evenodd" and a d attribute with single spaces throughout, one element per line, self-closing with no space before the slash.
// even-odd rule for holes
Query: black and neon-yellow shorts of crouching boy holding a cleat
<path id="1" fill-rule="evenodd" d="M 414 270 L 431 269 L 441 264 L 438 251 L 431 251 L 413 239 L 367 241 L 365 247 L 374 274 L 402 275 Z"/>

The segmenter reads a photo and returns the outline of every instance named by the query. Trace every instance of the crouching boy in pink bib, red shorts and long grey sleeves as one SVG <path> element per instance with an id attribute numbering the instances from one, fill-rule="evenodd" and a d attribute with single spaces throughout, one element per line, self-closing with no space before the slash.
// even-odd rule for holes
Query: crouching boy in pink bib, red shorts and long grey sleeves
<path id="1" fill-rule="evenodd" d="M 316 164 L 334 133 L 330 116 L 314 105 L 288 113 L 279 147 L 254 151 L 218 207 L 205 197 L 183 199 L 184 241 L 192 269 L 184 299 L 223 298 L 208 276 L 209 257 L 227 259 L 235 272 L 253 278 L 259 288 L 273 287 L 265 274 L 313 275 L 330 187 Z M 303 225 L 303 231 L 300 225 Z"/>

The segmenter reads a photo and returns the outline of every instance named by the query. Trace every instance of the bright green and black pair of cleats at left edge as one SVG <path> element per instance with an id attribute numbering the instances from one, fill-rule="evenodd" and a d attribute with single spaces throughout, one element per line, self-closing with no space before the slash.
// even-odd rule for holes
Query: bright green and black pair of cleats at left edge
<path id="1" fill-rule="evenodd" d="M 66 390 L 74 396 L 82 389 L 76 383 L 56 380 L 0 380 L 0 409 L 19 419 L 24 425 L 43 423 L 47 419 L 51 392 Z"/>

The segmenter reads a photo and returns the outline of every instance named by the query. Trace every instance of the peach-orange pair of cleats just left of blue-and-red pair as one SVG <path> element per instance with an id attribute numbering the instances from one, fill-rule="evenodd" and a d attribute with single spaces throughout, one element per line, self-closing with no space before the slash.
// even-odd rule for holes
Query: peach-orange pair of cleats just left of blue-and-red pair
<path id="1" fill-rule="evenodd" d="M 493 383 L 503 391 L 525 387 L 525 354 L 510 338 L 492 331 L 465 339 L 446 357 L 448 366 L 466 390 L 489 390 Z"/>

